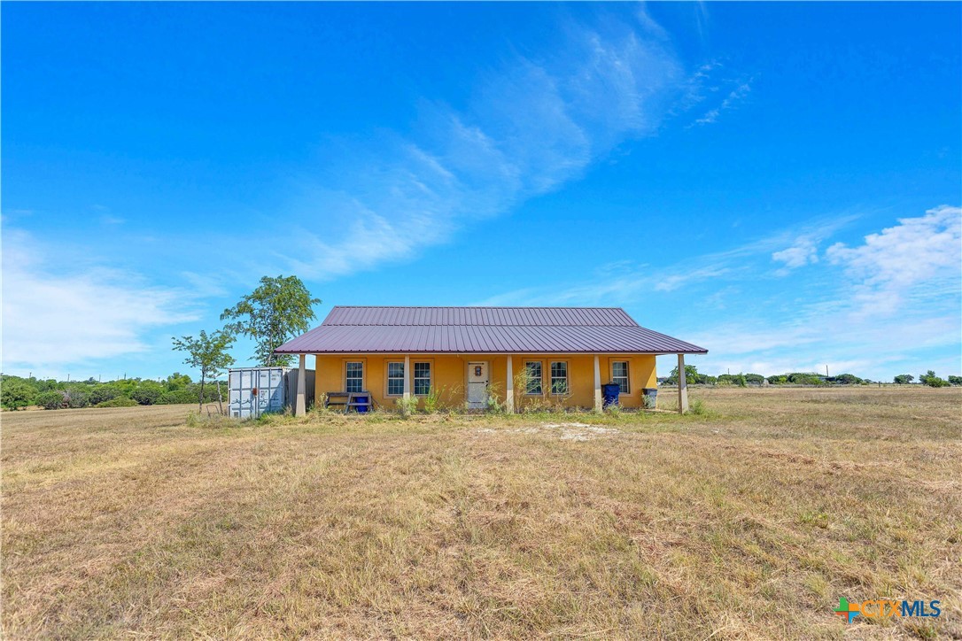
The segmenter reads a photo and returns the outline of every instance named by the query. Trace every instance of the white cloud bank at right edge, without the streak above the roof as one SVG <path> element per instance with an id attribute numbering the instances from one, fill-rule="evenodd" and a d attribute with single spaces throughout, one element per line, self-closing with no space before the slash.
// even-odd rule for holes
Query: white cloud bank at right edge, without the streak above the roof
<path id="1" fill-rule="evenodd" d="M 804 256 L 799 265 L 810 264 L 807 250 Z M 764 312 L 756 310 L 697 331 L 696 343 L 721 346 L 708 359 L 712 366 L 773 374 L 821 371 L 828 364 L 835 373 L 864 368 L 862 374 L 876 378 L 935 362 L 959 371 L 962 210 L 941 206 L 900 218 L 861 244 L 835 243 L 825 257 L 825 269 L 835 271 L 823 278 L 822 297 L 765 314 L 764 324 L 758 322 Z M 821 367 L 813 368 L 813 361 Z"/>

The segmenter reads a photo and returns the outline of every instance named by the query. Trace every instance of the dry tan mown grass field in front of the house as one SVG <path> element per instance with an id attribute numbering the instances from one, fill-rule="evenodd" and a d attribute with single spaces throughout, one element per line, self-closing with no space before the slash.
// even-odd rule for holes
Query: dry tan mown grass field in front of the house
<path id="1" fill-rule="evenodd" d="M 4 637 L 962 637 L 962 389 L 693 397 L 5 413 Z M 840 597 L 942 616 L 845 625 Z"/>

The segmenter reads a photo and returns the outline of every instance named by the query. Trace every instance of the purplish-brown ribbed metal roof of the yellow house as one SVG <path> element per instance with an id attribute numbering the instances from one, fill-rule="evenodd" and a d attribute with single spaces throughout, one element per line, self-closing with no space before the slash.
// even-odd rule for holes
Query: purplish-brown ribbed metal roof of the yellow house
<path id="1" fill-rule="evenodd" d="M 336 307 L 279 354 L 706 354 L 621 308 Z"/>

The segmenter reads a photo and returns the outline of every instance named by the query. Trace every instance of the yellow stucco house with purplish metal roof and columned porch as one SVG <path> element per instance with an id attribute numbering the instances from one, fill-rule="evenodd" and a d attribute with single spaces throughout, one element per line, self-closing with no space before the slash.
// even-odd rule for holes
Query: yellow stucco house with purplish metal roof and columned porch
<path id="1" fill-rule="evenodd" d="M 315 357 L 315 398 L 366 395 L 373 407 L 429 394 L 446 407 L 508 411 L 548 402 L 602 407 L 616 383 L 621 407 L 642 407 L 657 384 L 655 356 L 707 350 L 647 330 L 621 308 L 336 307 L 278 354 Z M 305 377 L 299 376 L 303 382 Z M 679 408 L 687 408 L 685 385 Z M 301 383 L 303 384 L 303 383 Z M 304 412 L 304 389 L 295 413 Z"/>

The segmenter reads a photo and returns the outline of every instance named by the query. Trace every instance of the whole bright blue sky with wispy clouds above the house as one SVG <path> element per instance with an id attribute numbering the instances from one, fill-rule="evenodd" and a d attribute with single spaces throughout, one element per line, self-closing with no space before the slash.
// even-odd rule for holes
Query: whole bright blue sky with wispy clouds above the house
<path id="1" fill-rule="evenodd" d="M 171 335 L 283 273 L 317 322 L 620 306 L 708 348 L 708 373 L 959 374 L 960 22 L 6 3 L 3 370 L 184 371 Z"/>

